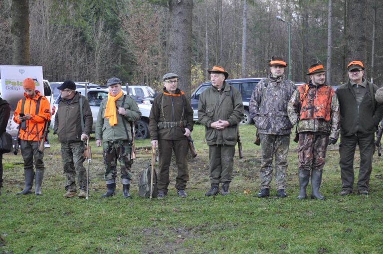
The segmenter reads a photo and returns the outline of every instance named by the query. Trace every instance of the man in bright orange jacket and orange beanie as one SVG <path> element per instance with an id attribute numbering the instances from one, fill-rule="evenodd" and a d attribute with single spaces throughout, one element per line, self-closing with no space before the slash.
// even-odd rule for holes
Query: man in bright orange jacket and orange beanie
<path id="1" fill-rule="evenodd" d="M 41 184 L 44 176 L 44 152 L 38 150 L 40 142 L 44 142 L 44 129 L 50 121 L 50 105 L 48 100 L 35 90 L 35 81 L 26 78 L 22 82 L 24 98 L 18 101 L 13 113 L 13 121 L 19 124 L 21 155 L 24 159 L 25 187 L 16 195 L 32 193 L 35 178 L 35 194 L 41 195 Z M 33 160 L 36 173 L 33 172 Z"/>

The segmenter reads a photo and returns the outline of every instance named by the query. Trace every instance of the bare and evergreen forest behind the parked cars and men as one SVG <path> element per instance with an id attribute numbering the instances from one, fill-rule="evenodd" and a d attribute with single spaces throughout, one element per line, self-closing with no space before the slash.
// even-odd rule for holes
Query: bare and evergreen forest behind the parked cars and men
<path id="1" fill-rule="evenodd" d="M 44 78 L 51 82 L 105 84 L 117 76 L 124 83 L 158 90 L 161 77 L 172 72 L 169 52 L 174 37 L 167 3 L 29 0 L 30 65 L 43 66 Z M 0 0 L 3 65 L 13 64 L 11 4 L 12 0 Z M 347 63 L 355 57 L 353 45 L 362 44 L 357 55 L 366 65 L 366 77 L 381 86 L 382 8 L 383 1 L 378 0 L 332 0 L 331 85 L 347 80 Z M 265 77 L 271 56 L 287 61 L 288 24 L 277 15 L 291 25 L 291 80 L 305 81 L 309 65 L 317 61 L 327 65 L 329 9 L 329 0 L 192 1 L 191 91 L 207 79 L 206 69 L 216 64 L 230 78 L 244 78 Z M 355 19 L 355 13 L 362 18 Z"/>

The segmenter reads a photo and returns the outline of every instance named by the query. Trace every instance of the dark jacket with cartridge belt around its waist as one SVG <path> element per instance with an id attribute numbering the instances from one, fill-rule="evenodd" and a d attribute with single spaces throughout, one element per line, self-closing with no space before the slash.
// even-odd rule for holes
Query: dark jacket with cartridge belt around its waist
<path id="1" fill-rule="evenodd" d="M 183 92 L 177 88 L 175 95 L 170 95 L 164 88 L 164 93 L 156 96 L 149 116 L 150 137 L 152 140 L 186 139 L 185 127 L 193 130 L 193 109 L 190 101 Z M 186 126 L 159 128 L 158 123 L 186 121 Z"/>

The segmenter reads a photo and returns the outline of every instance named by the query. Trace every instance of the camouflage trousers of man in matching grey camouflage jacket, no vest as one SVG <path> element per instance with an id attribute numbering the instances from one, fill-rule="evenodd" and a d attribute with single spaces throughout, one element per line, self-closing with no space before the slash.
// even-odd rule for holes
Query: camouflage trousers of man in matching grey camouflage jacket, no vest
<path id="1" fill-rule="evenodd" d="M 260 188 L 270 189 L 273 179 L 273 156 L 275 155 L 275 185 L 278 189 L 287 187 L 287 152 L 290 135 L 259 134 L 261 139 Z"/>

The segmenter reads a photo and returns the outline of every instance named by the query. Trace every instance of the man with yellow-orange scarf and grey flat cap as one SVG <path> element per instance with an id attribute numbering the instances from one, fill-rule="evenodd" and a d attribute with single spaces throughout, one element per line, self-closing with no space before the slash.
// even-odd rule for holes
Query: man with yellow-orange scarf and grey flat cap
<path id="1" fill-rule="evenodd" d="M 119 78 L 108 79 L 108 97 L 102 100 L 96 122 L 96 145 L 103 143 L 105 181 L 107 191 L 102 197 L 110 197 L 116 191 L 117 159 L 120 162 L 123 197 L 131 198 L 130 182 L 132 124 L 141 119 L 136 102 L 124 95 Z"/>

